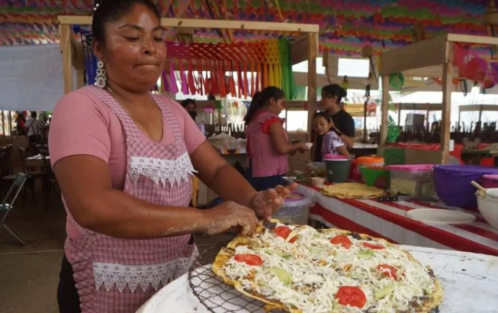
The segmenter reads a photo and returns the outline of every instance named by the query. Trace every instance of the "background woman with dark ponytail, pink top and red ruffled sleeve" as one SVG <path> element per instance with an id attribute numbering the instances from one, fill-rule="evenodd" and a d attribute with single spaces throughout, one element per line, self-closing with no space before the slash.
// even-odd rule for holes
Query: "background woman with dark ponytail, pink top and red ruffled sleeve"
<path id="1" fill-rule="evenodd" d="M 244 117 L 249 167 L 245 178 L 256 190 L 286 185 L 288 155 L 308 150 L 306 143 L 292 144 L 279 114 L 284 110 L 284 92 L 268 86 L 253 96 Z"/>

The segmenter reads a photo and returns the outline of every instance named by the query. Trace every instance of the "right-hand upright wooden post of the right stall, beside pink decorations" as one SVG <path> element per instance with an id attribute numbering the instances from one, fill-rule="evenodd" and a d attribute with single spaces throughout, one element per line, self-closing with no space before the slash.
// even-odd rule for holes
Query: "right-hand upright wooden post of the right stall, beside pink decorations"
<path id="1" fill-rule="evenodd" d="M 441 114 L 441 163 L 449 162 L 450 125 L 451 125 L 451 90 L 453 89 L 453 43 L 446 42 L 446 61 L 443 63 L 443 108 Z"/>

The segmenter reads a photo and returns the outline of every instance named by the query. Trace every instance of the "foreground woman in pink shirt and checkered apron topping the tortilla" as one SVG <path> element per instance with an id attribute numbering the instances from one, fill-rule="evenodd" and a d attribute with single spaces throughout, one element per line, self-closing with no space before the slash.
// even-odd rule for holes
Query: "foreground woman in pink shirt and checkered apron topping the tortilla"
<path id="1" fill-rule="evenodd" d="M 160 17 L 150 0 L 99 1 L 96 85 L 54 110 L 49 147 L 68 214 L 62 313 L 135 312 L 192 266 L 193 233 L 250 234 L 289 193 L 257 192 L 177 102 L 151 94 L 166 60 Z M 227 202 L 188 207 L 194 173 Z"/>

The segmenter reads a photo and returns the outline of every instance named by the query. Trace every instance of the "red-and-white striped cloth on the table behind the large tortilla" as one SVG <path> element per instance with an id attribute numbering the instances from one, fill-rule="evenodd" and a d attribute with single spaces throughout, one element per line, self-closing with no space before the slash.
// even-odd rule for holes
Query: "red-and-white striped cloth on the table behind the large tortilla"
<path id="1" fill-rule="evenodd" d="M 403 245 L 498 256 L 498 229 L 487 224 L 478 213 L 473 213 L 477 220 L 471 224 L 427 225 L 406 217 L 406 213 L 415 208 L 438 208 L 435 205 L 418 201 L 337 199 L 305 185 L 299 185 L 297 191 L 316 202 L 311 207 L 310 218 L 330 228 L 365 233 Z"/>

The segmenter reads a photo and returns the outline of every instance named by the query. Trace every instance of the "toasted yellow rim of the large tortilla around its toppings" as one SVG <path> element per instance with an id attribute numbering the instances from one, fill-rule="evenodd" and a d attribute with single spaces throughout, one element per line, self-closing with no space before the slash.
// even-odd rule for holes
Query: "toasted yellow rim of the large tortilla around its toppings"
<path id="1" fill-rule="evenodd" d="M 280 221 L 278 221 L 278 220 L 272 220 L 271 222 L 272 223 L 280 223 Z M 257 234 L 262 234 L 264 231 L 265 231 L 265 227 L 263 226 L 263 224 L 260 224 L 256 229 Z M 341 229 L 326 229 L 326 230 L 320 230 L 320 232 L 333 233 L 333 234 L 344 234 L 344 235 L 350 235 L 351 233 L 353 233 L 353 232 L 341 230 Z M 376 242 L 379 242 L 385 246 L 395 247 L 395 248 L 403 251 L 408 256 L 408 259 L 410 261 L 413 261 L 413 262 L 420 264 L 420 262 L 417 259 L 415 259 L 410 253 L 408 253 L 408 251 L 400 249 L 399 245 L 392 244 L 392 243 L 386 241 L 385 239 L 373 238 L 373 237 L 365 235 L 365 234 L 359 234 L 359 235 L 364 240 L 376 241 Z M 268 311 L 272 310 L 272 309 L 280 309 L 280 310 L 284 310 L 284 311 L 287 311 L 290 313 L 303 313 L 303 311 L 301 309 L 291 308 L 291 307 L 288 307 L 287 305 L 285 305 L 277 300 L 267 299 L 265 297 L 265 295 L 259 294 L 258 292 L 244 290 L 242 287 L 242 284 L 239 281 L 233 280 L 230 277 L 228 277 L 228 275 L 226 274 L 226 272 L 224 270 L 224 267 L 225 267 L 226 263 L 228 262 L 228 260 L 231 257 L 233 257 L 233 255 L 235 253 L 235 248 L 237 246 L 250 245 L 251 242 L 252 241 L 251 241 L 250 237 L 244 237 L 241 235 L 238 235 L 237 237 L 235 237 L 231 242 L 229 242 L 227 244 L 227 246 L 225 248 L 222 248 L 220 250 L 220 252 L 216 255 L 216 258 L 212 264 L 213 272 L 216 275 L 218 275 L 221 279 L 223 279 L 224 283 L 233 286 L 236 290 L 238 290 L 243 295 L 264 302 L 265 309 Z M 433 270 L 429 266 L 427 266 L 427 269 L 429 270 L 429 273 L 433 273 Z M 414 311 L 416 313 L 429 313 L 432 309 L 436 308 L 441 303 L 441 301 L 443 299 L 443 288 L 442 288 L 441 284 L 439 283 L 439 280 L 434 275 L 431 275 L 431 277 L 433 278 L 433 281 L 434 281 L 434 292 L 431 294 L 430 298 L 428 298 L 422 302 L 422 305 L 414 308 Z"/>

